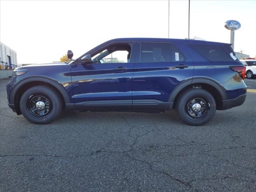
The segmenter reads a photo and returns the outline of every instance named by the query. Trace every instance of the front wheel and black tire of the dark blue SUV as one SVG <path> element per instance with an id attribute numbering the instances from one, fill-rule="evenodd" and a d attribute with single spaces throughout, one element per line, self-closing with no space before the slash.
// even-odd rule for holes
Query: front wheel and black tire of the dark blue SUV
<path id="1" fill-rule="evenodd" d="M 48 124 L 62 111 L 62 99 L 58 92 L 47 86 L 34 86 L 20 98 L 22 115 L 34 124 Z"/>

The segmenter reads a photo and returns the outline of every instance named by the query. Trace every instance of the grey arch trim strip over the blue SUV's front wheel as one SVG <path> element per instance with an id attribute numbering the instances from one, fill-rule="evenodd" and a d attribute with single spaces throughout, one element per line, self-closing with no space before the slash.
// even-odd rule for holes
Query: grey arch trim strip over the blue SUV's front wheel
<path id="1" fill-rule="evenodd" d="M 22 85 L 24 85 L 28 82 L 32 82 L 32 81 L 42 81 L 42 82 L 46 82 L 48 84 L 51 84 L 52 86 L 54 86 L 56 89 L 59 90 L 60 94 L 62 94 L 65 103 L 70 103 L 70 99 L 68 97 L 68 94 L 67 94 L 66 90 L 64 89 L 64 87 L 62 86 L 62 84 L 60 84 L 56 80 L 53 80 L 53 79 L 45 77 L 45 76 L 28 77 L 28 78 L 25 78 L 24 80 L 18 82 L 17 84 L 15 84 L 14 88 L 12 88 L 12 92 L 10 93 L 10 103 L 14 103 L 14 98 L 15 98 L 15 95 L 16 95 L 16 92 L 18 91 L 18 89 Z"/>

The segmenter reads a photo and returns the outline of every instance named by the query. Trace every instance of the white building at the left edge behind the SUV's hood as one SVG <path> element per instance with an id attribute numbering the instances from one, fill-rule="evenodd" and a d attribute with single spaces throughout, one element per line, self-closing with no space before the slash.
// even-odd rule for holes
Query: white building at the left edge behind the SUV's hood
<path id="1" fill-rule="evenodd" d="M 8 69 L 13 69 L 17 64 L 16 51 L 0 42 L 0 65 L 2 65 L 2 69 L 4 69 L 6 65 L 9 66 Z"/>

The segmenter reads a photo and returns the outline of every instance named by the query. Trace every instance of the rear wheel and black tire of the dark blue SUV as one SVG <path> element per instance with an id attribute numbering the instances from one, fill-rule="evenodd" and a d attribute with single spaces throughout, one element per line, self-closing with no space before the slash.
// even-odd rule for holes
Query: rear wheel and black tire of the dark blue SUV
<path id="1" fill-rule="evenodd" d="M 200 126 L 213 118 L 216 102 L 206 90 L 191 88 L 177 100 L 176 111 L 186 124 Z"/>

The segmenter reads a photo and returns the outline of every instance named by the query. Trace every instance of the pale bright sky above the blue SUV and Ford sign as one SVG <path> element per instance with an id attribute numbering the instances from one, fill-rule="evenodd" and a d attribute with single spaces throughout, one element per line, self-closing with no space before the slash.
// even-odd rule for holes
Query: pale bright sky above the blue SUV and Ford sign
<path id="1" fill-rule="evenodd" d="M 227 20 L 238 20 L 234 50 L 256 56 L 256 0 L 190 0 L 190 38 L 230 43 Z M 188 0 L 170 0 L 170 38 L 188 38 Z M 168 0 L 0 1 L 0 41 L 18 64 L 78 58 L 107 40 L 168 38 Z"/>

